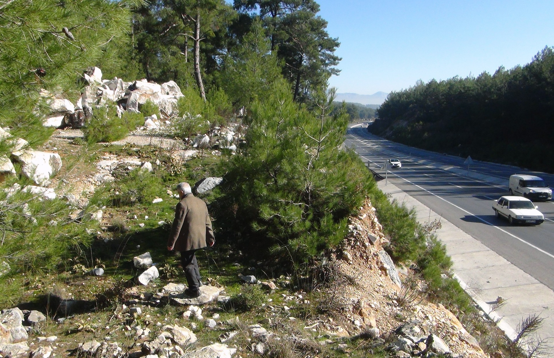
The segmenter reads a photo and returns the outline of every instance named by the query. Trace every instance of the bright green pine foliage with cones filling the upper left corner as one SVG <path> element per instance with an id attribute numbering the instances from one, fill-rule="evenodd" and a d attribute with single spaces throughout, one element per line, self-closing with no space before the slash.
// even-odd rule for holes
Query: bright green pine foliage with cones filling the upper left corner
<path id="1" fill-rule="evenodd" d="M 40 115 L 48 111 L 42 90 L 70 95 L 87 66 L 108 63 L 112 46 L 127 38 L 131 7 L 138 2 L 0 3 L 0 124 L 31 144 L 45 139 L 38 130 Z"/>

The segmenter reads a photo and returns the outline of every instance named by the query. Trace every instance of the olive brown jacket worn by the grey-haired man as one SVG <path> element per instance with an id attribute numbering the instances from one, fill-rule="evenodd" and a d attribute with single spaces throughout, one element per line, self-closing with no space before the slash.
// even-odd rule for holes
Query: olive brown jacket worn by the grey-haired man
<path id="1" fill-rule="evenodd" d="M 212 242 L 215 242 L 215 238 L 208 207 L 204 200 L 188 193 L 175 208 L 175 220 L 167 246 L 176 251 L 189 251 L 206 247 L 206 243 Z"/>

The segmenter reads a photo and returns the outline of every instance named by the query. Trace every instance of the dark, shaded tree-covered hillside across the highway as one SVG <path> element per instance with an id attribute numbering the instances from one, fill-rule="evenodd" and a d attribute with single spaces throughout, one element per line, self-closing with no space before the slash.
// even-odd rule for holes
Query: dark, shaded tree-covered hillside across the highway
<path id="1" fill-rule="evenodd" d="M 554 50 L 493 75 L 392 92 L 372 133 L 432 151 L 554 172 Z"/>

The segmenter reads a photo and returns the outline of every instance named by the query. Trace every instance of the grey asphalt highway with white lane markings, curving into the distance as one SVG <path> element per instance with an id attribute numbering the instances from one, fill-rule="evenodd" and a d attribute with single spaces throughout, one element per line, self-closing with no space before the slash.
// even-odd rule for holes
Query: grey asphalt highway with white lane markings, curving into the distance
<path id="1" fill-rule="evenodd" d="M 510 225 L 494 216 L 493 201 L 508 195 L 507 186 L 465 177 L 418 163 L 414 158 L 434 163 L 466 168 L 465 158 L 422 151 L 403 144 L 373 136 L 367 128 L 348 128 L 345 143 L 367 162 L 379 169 L 386 160 L 398 158 L 402 168 L 388 169 L 391 183 L 413 196 L 420 203 L 442 215 L 467 234 L 522 269 L 537 281 L 554 289 L 554 203 L 535 203 L 545 215 L 537 226 Z M 517 167 L 495 163 L 475 162 L 470 169 L 496 178 L 507 179 L 511 174 L 535 174 L 554 184 L 554 175 L 530 172 Z"/>

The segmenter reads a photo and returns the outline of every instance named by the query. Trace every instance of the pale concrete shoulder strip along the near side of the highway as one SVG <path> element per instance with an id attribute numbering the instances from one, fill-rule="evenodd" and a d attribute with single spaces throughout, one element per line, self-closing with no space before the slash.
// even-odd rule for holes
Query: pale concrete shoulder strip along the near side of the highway
<path id="1" fill-rule="evenodd" d="M 521 320 L 539 314 L 545 320 L 537 337 L 554 338 L 554 292 L 550 288 L 394 184 L 385 185 L 384 181 L 379 181 L 378 187 L 383 193 L 390 194 L 391 200 L 414 207 L 419 222 L 440 220 L 442 227 L 437 236 L 452 257 L 454 277 L 481 309 L 498 321 L 499 328 L 507 336 L 514 339 Z M 491 312 L 492 304 L 499 296 L 507 302 L 496 312 Z"/>

